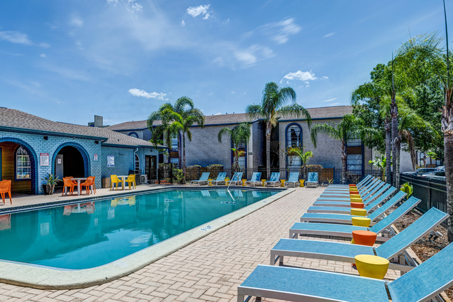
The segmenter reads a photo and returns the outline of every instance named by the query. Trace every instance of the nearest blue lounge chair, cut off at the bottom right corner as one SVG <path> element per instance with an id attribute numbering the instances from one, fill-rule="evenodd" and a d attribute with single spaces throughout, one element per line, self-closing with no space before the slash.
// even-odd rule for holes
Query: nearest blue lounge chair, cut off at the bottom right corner
<path id="1" fill-rule="evenodd" d="M 254 296 L 286 301 L 388 302 L 388 294 L 393 302 L 431 301 L 453 284 L 452 255 L 453 244 L 450 244 L 395 281 L 259 265 L 237 287 L 237 301 L 244 302 L 244 296 Z"/>

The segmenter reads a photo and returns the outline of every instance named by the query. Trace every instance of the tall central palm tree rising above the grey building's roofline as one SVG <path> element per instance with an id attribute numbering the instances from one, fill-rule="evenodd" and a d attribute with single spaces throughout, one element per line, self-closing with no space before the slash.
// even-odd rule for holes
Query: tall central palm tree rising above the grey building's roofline
<path id="1" fill-rule="evenodd" d="M 280 88 L 275 82 L 266 83 L 261 104 L 246 107 L 246 113 L 252 118 L 264 118 L 266 122 L 266 173 L 270 178 L 270 135 L 277 126 L 280 117 L 303 116 L 308 127 L 312 125 L 310 113 L 296 102 L 296 92 L 291 87 Z"/>

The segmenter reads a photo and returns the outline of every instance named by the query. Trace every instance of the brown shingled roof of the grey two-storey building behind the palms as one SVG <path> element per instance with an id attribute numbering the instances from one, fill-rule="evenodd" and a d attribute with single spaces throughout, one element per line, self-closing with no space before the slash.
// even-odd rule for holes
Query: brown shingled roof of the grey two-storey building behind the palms
<path id="1" fill-rule="evenodd" d="M 352 113 L 352 106 L 332 106 L 332 107 L 320 107 L 320 108 L 307 108 L 312 119 L 332 119 L 335 117 L 342 117 L 347 113 Z M 296 116 L 284 117 L 279 121 L 301 119 Z M 247 113 L 233 113 L 229 115 L 206 115 L 205 126 L 216 126 L 223 124 L 239 124 L 244 121 L 254 121 Z M 159 125 L 157 121 L 154 125 Z M 126 121 L 121 124 L 108 126 L 110 130 L 115 131 L 126 131 L 126 130 L 142 130 L 148 128 L 146 121 Z"/>

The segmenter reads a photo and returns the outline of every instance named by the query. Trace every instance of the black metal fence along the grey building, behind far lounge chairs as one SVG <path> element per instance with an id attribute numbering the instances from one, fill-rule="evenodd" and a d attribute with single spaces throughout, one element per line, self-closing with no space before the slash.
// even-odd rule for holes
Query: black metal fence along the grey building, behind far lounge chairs
<path id="1" fill-rule="evenodd" d="M 220 172 L 226 172 L 227 177 L 231 178 L 234 171 L 230 167 L 187 167 L 185 171 L 185 182 L 194 181 L 200 179 L 200 176 L 203 172 L 209 172 L 210 179 L 216 179 Z M 262 179 L 267 179 L 267 172 L 265 167 L 256 167 L 256 168 L 241 168 L 239 172 L 243 172 L 242 179 L 251 179 L 254 172 L 261 172 Z M 342 182 L 341 175 L 342 169 L 337 167 L 332 168 L 314 168 L 306 167 L 290 167 L 288 169 L 281 169 L 279 167 L 272 167 L 270 172 L 280 172 L 280 179 L 288 179 L 288 176 L 291 172 L 299 172 L 299 179 L 307 179 L 308 173 L 316 172 L 318 173 L 318 183 L 320 185 L 329 185 L 329 184 L 340 184 Z M 178 183 L 179 180 L 183 180 L 182 170 L 176 169 L 174 167 L 159 167 L 158 169 L 147 170 L 148 178 L 152 183 Z M 382 178 L 384 175 L 381 170 L 375 169 L 365 169 L 365 170 L 348 170 L 346 173 L 347 183 L 358 183 L 359 181 L 371 174 L 375 177 Z"/>

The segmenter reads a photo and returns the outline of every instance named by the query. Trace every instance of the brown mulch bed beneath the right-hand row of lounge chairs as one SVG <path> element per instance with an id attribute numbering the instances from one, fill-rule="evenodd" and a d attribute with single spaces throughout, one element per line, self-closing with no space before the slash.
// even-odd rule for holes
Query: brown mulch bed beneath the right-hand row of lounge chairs
<path id="1" fill-rule="evenodd" d="M 415 222 L 415 220 L 417 220 L 417 218 L 419 218 L 420 216 L 421 212 L 414 209 L 397 220 L 397 222 L 395 222 L 395 227 L 397 227 L 399 231 L 402 231 L 406 229 L 406 227 L 408 227 L 411 223 Z M 443 236 L 438 237 L 435 241 L 432 241 L 428 239 L 428 234 L 425 237 L 421 238 L 421 240 L 413 244 L 413 246 L 411 246 L 417 257 L 419 257 L 423 262 L 435 255 L 437 252 L 441 251 L 441 249 L 445 248 L 445 246 L 448 246 L 447 229 L 439 226 L 436 227 L 434 231 L 438 231 Z M 448 290 L 445 290 L 445 293 L 447 294 L 448 298 L 453 301 L 453 286 L 451 288 L 448 288 Z"/>

